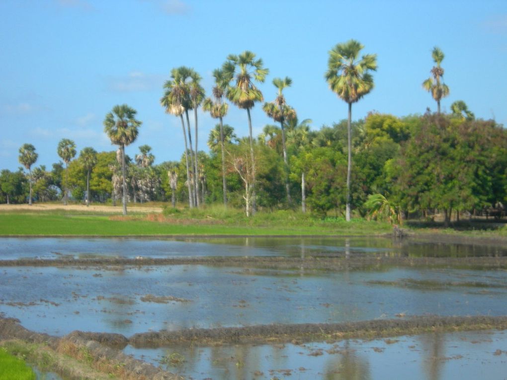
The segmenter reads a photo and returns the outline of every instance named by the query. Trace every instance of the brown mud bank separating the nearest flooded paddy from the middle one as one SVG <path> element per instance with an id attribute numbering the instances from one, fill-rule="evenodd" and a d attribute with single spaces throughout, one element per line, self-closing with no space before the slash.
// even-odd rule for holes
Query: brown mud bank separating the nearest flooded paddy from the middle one
<path id="1" fill-rule="evenodd" d="M 150 331 L 128 339 L 136 347 L 161 347 L 175 343 L 217 345 L 223 343 L 298 343 L 337 341 L 348 338 L 378 338 L 421 334 L 429 331 L 468 331 L 507 329 L 507 316 L 413 317 L 350 323 L 272 324 L 245 327 Z"/>

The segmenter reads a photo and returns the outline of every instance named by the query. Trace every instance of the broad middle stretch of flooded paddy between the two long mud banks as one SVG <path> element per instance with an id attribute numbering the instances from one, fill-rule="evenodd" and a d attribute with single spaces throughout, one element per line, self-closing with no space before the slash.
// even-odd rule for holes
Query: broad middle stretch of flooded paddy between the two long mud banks
<path id="1" fill-rule="evenodd" d="M 319 274 L 202 265 L 111 269 L 0 268 L 0 312 L 50 334 L 80 329 L 129 336 L 160 329 L 396 318 L 399 313 L 504 315 L 507 295 L 505 271 L 393 268 Z M 416 286 L 406 286 L 407 279 Z M 417 281 L 451 285 L 434 290 Z M 481 286 L 463 286 L 469 281 Z M 190 302 L 142 301 L 147 294 Z"/>

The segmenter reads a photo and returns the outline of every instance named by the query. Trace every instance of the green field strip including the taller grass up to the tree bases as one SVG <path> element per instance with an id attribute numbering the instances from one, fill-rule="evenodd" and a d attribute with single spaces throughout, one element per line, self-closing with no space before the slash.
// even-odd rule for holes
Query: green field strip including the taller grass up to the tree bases
<path id="1" fill-rule="evenodd" d="M 391 231 L 388 223 L 321 220 L 293 211 L 259 212 L 246 218 L 236 210 L 184 210 L 166 212 L 165 218 L 150 221 L 143 215 L 134 215 L 115 220 L 85 212 L 4 212 L 0 213 L 0 235 L 375 235 Z"/>

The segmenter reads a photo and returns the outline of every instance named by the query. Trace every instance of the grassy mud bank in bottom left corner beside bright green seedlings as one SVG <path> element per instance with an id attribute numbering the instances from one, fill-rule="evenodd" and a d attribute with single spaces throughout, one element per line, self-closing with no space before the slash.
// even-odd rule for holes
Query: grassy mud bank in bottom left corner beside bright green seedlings
<path id="1" fill-rule="evenodd" d="M 108 378 L 110 374 L 127 380 L 182 379 L 182 377 L 163 371 L 152 364 L 127 356 L 117 347 L 107 347 L 103 344 L 120 345 L 123 348 L 127 339 L 119 334 L 75 331 L 58 338 L 29 331 L 21 326 L 16 319 L 0 318 L 0 344 L 8 344 L 12 339 L 18 339 L 25 344 L 46 346 L 43 347 L 46 362 L 48 356 L 54 358 L 51 360 L 50 369 L 70 379 Z M 38 350 L 40 351 L 41 347 Z M 77 363 L 64 360 L 63 356 L 70 356 Z"/>

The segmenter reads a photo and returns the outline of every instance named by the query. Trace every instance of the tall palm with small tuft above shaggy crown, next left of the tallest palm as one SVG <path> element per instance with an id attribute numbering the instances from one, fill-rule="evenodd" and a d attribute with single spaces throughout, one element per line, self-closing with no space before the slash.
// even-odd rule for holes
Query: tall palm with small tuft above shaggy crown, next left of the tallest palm
<path id="1" fill-rule="evenodd" d="M 283 124 L 289 120 L 296 118 L 296 110 L 287 105 L 285 101 L 285 97 L 283 96 L 283 89 L 286 87 L 291 87 L 292 79 L 289 77 L 285 77 L 285 79 L 275 78 L 273 79 L 273 85 L 278 89 L 278 94 L 276 99 L 270 103 L 264 103 L 262 109 L 264 112 L 272 118 L 275 122 L 280 123 L 280 127 L 282 130 L 282 149 L 283 149 L 283 163 L 285 165 L 285 191 L 287 193 L 287 203 L 290 205 L 292 203 L 291 200 L 291 192 L 289 191 L 288 184 L 288 160 L 287 160 L 287 148 L 285 146 L 285 129 Z"/>

